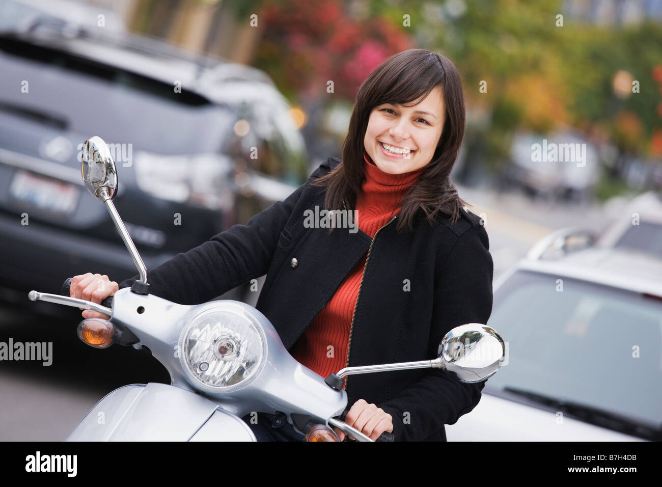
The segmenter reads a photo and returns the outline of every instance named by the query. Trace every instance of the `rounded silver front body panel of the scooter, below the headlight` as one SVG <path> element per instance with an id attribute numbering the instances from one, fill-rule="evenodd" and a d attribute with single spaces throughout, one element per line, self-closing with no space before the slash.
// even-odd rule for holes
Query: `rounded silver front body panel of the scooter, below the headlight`
<path id="1" fill-rule="evenodd" d="M 250 427 L 213 401 L 150 382 L 114 390 L 65 441 L 256 441 Z"/>

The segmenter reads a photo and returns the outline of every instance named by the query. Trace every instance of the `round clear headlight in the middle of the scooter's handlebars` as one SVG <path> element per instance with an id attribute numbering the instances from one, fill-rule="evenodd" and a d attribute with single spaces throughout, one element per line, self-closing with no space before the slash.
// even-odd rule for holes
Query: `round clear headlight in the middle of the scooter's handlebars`
<path id="1" fill-rule="evenodd" d="M 211 394 L 228 394 L 248 386 L 260 374 L 267 340 L 256 317 L 242 307 L 222 303 L 187 323 L 178 350 L 193 385 Z"/>

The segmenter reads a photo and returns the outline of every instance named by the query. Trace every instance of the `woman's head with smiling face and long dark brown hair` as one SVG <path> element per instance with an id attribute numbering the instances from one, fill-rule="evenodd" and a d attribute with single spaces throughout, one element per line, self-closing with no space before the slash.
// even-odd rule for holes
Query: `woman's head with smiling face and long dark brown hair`
<path id="1" fill-rule="evenodd" d="M 404 50 L 363 82 L 342 150 L 343 164 L 313 184 L 328 188 L 326 208 L 342 209 L 343 201 L 355 207 L 365 177 L 364 156 L 385 174 L 413 176 L 422 170 L 402 199 L 397 228 L 412 229 L 419 210 L 431 225 L 438 213 L 455 223 L 468 205 L 449 180 L 464 126 L 464 96 L 455 65 L 437 52 Z"/>

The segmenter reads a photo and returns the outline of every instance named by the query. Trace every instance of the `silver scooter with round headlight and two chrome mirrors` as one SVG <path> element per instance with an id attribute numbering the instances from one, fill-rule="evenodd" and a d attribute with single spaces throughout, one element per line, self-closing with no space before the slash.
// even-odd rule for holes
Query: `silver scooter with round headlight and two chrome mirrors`
<path id="1" fill-rule="evenodd" d="M 256 441 L 241 418 L 284 413 L 307 441 L 338 441 L 337 427 L 357 441 L 373 441 L 342 421 L 347 394 L 342 378 L 412 368 L 441 368 L 461 382 L 495 374 L 505 347 L 495 330 L 469 323 L 449 331 L 434 360 L 348 367 L 324 379 L 287 352 L 262 313 L 240 301 L 180 305 L 149 294 L 147 271 L 113 198 L 117 169 L 108 146 L 85 141 L 82 164 L 87 189 L 103 201 L 138 267 L 140 279 L 101 304 L 63 294 L 30 291 L 34 301 L 93 309 L 111 317 L 84 319 L 80 339 L 97 348 L 113 343 L 148 347 L 166 367 L 171 384 L 132 384 L 111 392 L 83 417 L 67 441 Z M 378 441 L 393 441 L 383 433 Z"/>

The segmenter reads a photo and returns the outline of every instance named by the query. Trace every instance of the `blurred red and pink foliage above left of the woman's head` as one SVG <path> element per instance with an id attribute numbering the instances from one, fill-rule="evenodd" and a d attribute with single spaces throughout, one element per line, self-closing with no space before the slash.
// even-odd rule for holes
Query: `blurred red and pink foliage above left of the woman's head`
<path id="1" fill-rule="evenodd" d="M 382 15 L 354 19 L 338 0 L 265 1 L 260 49 L 254 65 L 290 99 L 301 91 L 322 96 L 333 81 L 336 98 L 356 90 L 385 58 L 414 47 L 410 35 Z"/>

